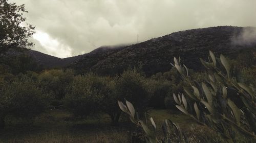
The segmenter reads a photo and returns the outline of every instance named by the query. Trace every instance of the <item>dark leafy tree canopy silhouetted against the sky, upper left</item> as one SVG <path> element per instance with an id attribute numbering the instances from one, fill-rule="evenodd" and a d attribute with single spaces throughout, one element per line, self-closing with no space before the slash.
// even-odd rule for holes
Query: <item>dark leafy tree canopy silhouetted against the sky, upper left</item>
<path id="1" fill-rule="evenodd" d="M 33 43 L 28 38 L 34 34 L 35 27 L 26 23 L 23 13 L 25 6 L 0 0 L 0 53 L 10 48 L 26 49 Z"/>

